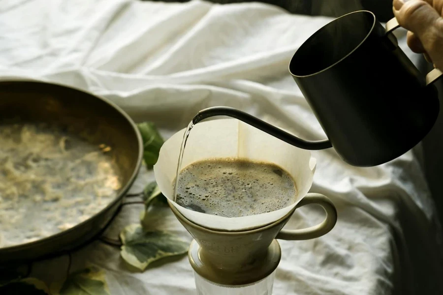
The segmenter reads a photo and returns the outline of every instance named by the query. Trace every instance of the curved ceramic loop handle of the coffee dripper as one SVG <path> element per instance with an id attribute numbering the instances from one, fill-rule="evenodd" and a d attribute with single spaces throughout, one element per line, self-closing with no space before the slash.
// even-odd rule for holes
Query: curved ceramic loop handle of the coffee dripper
<path id="1" fill-rule="evenodd" d="M 334 204 L 331 200 L 329 200 L 328 197 L 322 194 L 309 193 L 300 201 L 300 203 L 297 204 L 297 208 L 310 204 L 316 204 L 323 207 L 324 211 L 326 212 L 326 218 L 321 223 L 306 229 L 283 229 L 276 238 L 284 240 L 306 240 L 329 233 L 337 222 L 337 209 L 335 208 Z"/>

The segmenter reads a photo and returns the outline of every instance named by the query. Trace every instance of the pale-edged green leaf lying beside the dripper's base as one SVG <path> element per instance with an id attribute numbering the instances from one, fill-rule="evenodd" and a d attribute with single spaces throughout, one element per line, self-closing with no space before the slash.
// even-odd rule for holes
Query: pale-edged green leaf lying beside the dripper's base
<path id="1" fill-rule="evenodd" d="M 131 266 L 140 270 L 163 257 L 188 252 L 189 243 L 167 232 L 144 231 L 140 224 L 131 224 L 121 233 L 123 246 L 120 254 Z"/>

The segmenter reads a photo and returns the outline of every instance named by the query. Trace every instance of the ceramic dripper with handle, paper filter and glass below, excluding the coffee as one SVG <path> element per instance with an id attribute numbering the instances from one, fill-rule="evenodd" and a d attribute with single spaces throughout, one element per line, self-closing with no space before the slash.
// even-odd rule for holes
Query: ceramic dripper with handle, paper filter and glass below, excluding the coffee
<path id="1" fill-rule="evenodd" d="M 174 202 L 173 183 L 185 131 L 177 132 L 163 144 L 154 173 L 172 212 L 194 238 L 188 256 L 195 272 L 197 293 L 272 294 L 272 274 L 281 258 L 276 238 L 316 238 L 332 230 L 337 221 L 337 211 L 326 196 L 308 193 L 316 159 L 310 151 L 287 145 L 239 120 L 219 119 L 195 125 L 183 154 L 183 169 L 195 162 L 217 158 L 272 163 L 292 177 L 297 191 L 293 204 L 275 211 L 241 217 L 210 215 Z M 296 208 L 309 204 L 322 207 L 326 218 L 305 229 L 283 229 Z"/>

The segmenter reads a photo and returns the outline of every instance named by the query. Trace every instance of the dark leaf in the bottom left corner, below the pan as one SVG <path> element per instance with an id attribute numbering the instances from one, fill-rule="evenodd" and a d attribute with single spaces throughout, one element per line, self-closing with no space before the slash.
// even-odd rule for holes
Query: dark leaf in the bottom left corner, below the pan
<path id="1" fill-rule="evenodd" d="M 48 295 L 48 287 L 40 280 L 26 278 L 13 280 L 0 286 L 0 294 L 7 295 Z"/>

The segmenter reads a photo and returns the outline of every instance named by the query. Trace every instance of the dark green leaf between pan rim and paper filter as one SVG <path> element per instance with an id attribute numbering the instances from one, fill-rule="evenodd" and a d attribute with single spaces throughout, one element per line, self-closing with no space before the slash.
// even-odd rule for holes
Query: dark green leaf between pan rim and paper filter
<path id="1" fill-rule="evenodd" d="M 158 153 L 164 141 L 158 133 L 157 127 L 152 122 L 137 124 L 143 139 L 143 159 L 148 168 L 152 168 L 158 160 Z"/>

